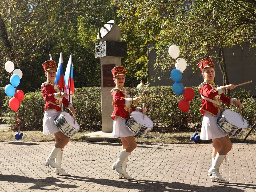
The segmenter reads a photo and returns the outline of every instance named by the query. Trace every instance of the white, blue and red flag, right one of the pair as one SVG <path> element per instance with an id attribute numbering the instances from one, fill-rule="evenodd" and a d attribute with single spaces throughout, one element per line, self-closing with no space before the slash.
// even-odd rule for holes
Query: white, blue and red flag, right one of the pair
<path id="1" fill-rule="evenodd" d="M 65 85 L 67 88 L 65 90 L 65 93 L 73 94 L 74 93 L 74 75 L 73 75 L 72 52 L 69 57 L 69 62 L 67 63 L 64 79 L 65 79 Z M 67 99 L 69 100 L 70 103 L 72 103 L 72 95 L 67 96 Z"/>

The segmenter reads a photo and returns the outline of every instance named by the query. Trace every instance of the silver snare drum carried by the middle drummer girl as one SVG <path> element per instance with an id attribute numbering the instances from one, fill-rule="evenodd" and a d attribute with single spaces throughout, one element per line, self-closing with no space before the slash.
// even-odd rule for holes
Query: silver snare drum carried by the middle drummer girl
<path id="1" fill-rule="evenodd" d="M 143 119 L 143 113 L 139 111 L 132 111 L 125 125 L 131 132 L 141 137 L 146 137 L 154 127 L 153 121 L 147 115 Z"/>

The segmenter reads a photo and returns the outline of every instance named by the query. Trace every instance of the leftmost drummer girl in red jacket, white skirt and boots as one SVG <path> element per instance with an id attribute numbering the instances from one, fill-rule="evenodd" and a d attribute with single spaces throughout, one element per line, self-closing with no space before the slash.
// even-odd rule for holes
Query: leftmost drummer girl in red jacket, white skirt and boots
<path id="1" fill-rule="evenodd" d="M 62 104 L 69 108 L 73 115 L 75 115 L 75 108 L 65 98 L 67 97 L 67 93 L 63 93 L 61 87 L 54 83 L 57 70 L 56 62 L 52 60 L 45 61 L 43 63 L 43 69 L 47 77 L 47 81 L 41 85 L 43 99 L 46 101 L 43 117 L 43 134 L 54 134 L 56 142 L 45 163 L 46 166 L 50 165 L 55 168 L 56 175 L 70 175 L 61 168 L 63 148 L 69 142 L 69 137 L 58 129 L 54 123 L 54 119 L 61 113 Z"/>

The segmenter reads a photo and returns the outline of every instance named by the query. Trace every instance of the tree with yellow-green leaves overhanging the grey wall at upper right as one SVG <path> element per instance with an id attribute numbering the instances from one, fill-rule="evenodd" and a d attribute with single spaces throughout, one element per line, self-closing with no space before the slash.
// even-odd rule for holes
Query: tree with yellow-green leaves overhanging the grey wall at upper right
<path id="1" fill-rule="evenodd" d="M 225 49 L 244 41 L 255 46 L 250 39 L 256 29 L 254 0 L 117 2 L 124 32 L 133 28 L 145 43 L 156 45 L 155 69 L 159 73 L 174 67 L 168 48 L 175 44 L 181 50 L 179 57 L 186 58 L 194 70 L 201 58 L 218 58 L 226 85 Z"/>

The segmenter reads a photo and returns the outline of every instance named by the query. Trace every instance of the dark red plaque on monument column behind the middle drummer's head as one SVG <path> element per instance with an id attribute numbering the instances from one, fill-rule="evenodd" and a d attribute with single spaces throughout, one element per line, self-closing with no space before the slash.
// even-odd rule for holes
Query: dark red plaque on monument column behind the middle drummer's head
<path id="1" fill-rule="evenodd" d="M 115 64 L 102 65 L 102 87 L 115 87 L 111 70 Z"/>

